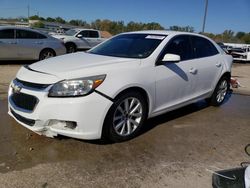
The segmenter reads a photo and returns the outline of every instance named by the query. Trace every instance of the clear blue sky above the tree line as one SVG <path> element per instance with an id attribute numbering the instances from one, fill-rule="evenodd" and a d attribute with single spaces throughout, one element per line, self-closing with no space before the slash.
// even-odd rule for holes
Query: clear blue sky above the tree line
<path id="1" fill-rule="evenodd" d="M 250 0 L 208 1 L 206 32 L 250 32 Z M 189 25 L 196 32 L 202 29 L 205 10 L 205 0 L 0 0 L 0 17 L 27 17 L 28 5 L 30 15 L 42 17 L 158 22 L 165 28 Z"/>

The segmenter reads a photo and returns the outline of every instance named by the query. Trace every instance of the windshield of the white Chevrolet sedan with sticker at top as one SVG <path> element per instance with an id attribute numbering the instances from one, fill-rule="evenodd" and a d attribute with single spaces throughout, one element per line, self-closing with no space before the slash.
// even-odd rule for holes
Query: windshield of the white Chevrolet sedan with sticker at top
<path id="1" fill-rule="evenodd" d="M 118 35 L 90 50 L 89 53 L 125 58 L 146 58 L 165 37 L 166 35 L 152 34 Z"/>

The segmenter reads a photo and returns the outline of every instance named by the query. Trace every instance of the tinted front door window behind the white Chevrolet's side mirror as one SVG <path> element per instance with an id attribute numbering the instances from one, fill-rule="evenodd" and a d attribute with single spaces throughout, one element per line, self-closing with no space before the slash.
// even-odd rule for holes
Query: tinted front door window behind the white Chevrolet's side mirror
<path id="1" fill-rule="evenodd" d="M 168 42 L 162 57 L 165 54 L 176 54 L 181 57 L 181 61 L 188 60 L 192 58 L 192 48 L 190 44 L 189 36 L 177 36 Z"/>

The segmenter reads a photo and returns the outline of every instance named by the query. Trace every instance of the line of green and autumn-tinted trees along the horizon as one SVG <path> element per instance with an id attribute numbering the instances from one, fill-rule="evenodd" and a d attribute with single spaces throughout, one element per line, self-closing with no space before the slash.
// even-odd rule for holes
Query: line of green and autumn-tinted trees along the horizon
<path id="1" fill-rule="evenodd" d="M 138 30 L 173 30 L 173 31 L 185 31 L 185 32 L 195 32 L 194 27 L 192 26 L 170 26 L 169 28 L 164 28 L 161 24 L 156 22 L 151 23 L 142 23 L 142 22 L 129 22 L 125 24 L 123 21 L 111 21 L 108 19 L 97 19 L 95 21 L 92 21 L 90 23 L 81 20 L 81 19 L 72 19 L 70 21 L 66 21 L 61 17 L 39 17 L 37 15 L 31 16 L 29 18 L 30 20 L 39 20 L 39 22 L 35 23 L 33 27 L 39 27 L 43 28 L 45 25 L 43 21 L 47 22 L 56 22 L 60 24 L 69 24 L 75 27 L 84 27 L 84 28 L 92 28 L 92 29 L 98 29 L 102 31 L 108 31 L 112 35 L 116 35 L 118 33 L 127 32 L 127 31 L 138 31 Z M 12 20 L 16 21 L 28 21 L 27 18 L 15 18 Z M 201 33 L 204 34 L 216 42 L 231 42 L 231 43 L 248 43 L 250 44 L 250 32 L 242 32 L 239 31 L 235 33 L 232 30 L 225 30 L 221 34 L 214 34 L 214 33 Z"/>

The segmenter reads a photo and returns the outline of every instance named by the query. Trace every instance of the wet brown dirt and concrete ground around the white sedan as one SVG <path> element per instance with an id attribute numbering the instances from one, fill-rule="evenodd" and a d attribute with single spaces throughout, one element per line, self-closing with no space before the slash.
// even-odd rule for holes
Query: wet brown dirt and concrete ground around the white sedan
<path id="1" fill-rule="evenodd" d="M 204 101 L 153 118 L 128 142 L 50 139 L 7 115 L 7 88 L 20 65 L 0 66 L 0 187 L 211 187 L 210 170 L 249 161 L 250 64 L 234 64 L 220 108 Z"/>

